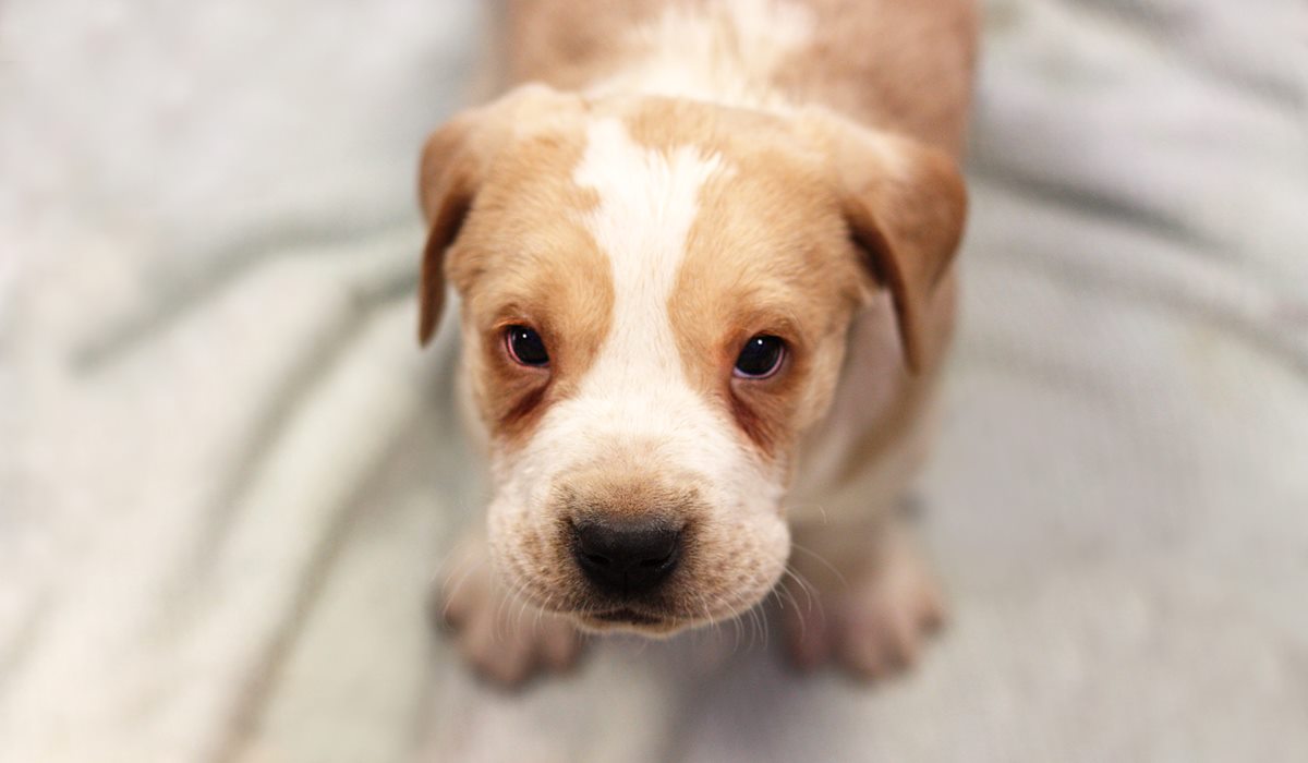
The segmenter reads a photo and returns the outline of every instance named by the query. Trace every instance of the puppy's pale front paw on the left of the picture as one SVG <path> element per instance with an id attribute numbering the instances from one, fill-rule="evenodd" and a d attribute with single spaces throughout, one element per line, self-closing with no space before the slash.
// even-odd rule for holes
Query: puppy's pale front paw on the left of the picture
<path id="1" fill-rule="evenodd" d="M 464 658 L 496 683 L 514 686 L 542 670 L 566 670 L 581 650 L 576 626 L 509 592 L 480 548 L 451 564 L 433 605 Z"/>

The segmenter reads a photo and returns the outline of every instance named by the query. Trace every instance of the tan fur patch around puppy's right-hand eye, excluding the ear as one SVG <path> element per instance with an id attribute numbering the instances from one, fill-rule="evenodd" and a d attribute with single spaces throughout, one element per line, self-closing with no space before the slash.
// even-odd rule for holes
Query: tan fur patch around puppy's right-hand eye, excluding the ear
<path id="1" fill-rule="evenodd" d="M 633 131 L 653 145 L 661 133 L 664 141 L 704 135 L 695 110 L 651 109 Z M 668 314 L 687 374 L 706 395 L 723 400 L 759 448 L 778 457 L 831 400 L 844 327 L 861 301 L 866 274 L 852 254 L 820 157 L 795 156 L 793 137 L 777 133 L 776 124 L 751 123 L 743 114 L 735 122 L 719 124 L 704 144 L 766 171 L 702 190 Z M 705 331 L 709 326 L 715 331 Z M 785 339 L 790 366 L 764 382 L 734 380 L 735 355 L 756 334 Z"/>

